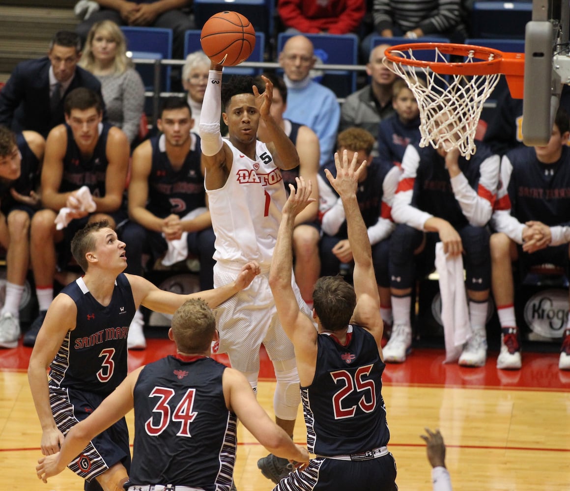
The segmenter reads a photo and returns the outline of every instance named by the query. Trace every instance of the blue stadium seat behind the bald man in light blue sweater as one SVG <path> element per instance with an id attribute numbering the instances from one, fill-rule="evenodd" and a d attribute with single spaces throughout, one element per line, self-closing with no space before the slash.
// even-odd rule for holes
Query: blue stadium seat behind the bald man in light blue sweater
<path id="1" fill-rule="evenodd" d="M 283 50 L 287 39 L 296 34 L 281 32 L 277 36 L 277 51 Z M 356 34 L 303 34 L 311 40 L 315 55 L 325 64 L 357 65 L 359 38 Z M 322 85 L 331 89 L 337 97 L 347 97 L 356 91 L 356 71 L 326 70 Z"/>

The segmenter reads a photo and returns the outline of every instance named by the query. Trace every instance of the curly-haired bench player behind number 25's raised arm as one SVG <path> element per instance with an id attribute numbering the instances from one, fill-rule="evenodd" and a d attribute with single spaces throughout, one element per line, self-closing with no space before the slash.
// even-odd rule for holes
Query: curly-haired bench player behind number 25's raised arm
<path id="1" fill-rule="evenodd" d="M 372 261 L 376 273 L 376 283 L 380 294 L 380 313 L 385 325 L 392 324 L 390 309 L 390 279 L 388 275 L 389 236 L 394 230 L 390 217 L 390 206 L 400 178 L 400 170 L 392 163 L 373 160 L 370 153 L 374 137 L 362 128 L 348 128 L 337 137 L 337 152 L 348 158 L 356 158 L 356 165 L 369 162 L 359 172 L 359 186 L 356 199 L 367 226 L 368 240 L 372 245 Z M 326 174 L 336 175 L 335 161 L 329 162 L 319 171 L 321 228 L 320 242 L 322 261 L 321 276 L 334 276 L 341 271 L 341 265 L 349 267 L 353 263 L 351 242 L 348 240 L 347 217 L 343 201 Z"/>

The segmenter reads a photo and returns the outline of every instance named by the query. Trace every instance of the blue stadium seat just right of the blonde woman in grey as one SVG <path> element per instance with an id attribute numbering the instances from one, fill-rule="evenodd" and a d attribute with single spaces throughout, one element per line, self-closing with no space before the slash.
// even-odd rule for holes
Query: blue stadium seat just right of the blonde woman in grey
<path id="1" fill-rule="evenodd" d="M 127 50 L 131 51 L 133 58 L 172 59 L 172 29 L 122 26 L 121 31 L 127 38 Z M 143 79 L 145 89 L 154 90 L 154 66 L 138 64 L 136 69 Z M 170 92 L 169 66 L 163 66 L 161 69 L 161 88 Z"/>

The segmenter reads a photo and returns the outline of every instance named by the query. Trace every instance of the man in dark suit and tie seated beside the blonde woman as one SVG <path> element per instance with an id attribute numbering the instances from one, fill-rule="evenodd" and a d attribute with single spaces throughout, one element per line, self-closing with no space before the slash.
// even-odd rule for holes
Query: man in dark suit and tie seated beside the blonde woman
<path id="1" fill-rule="evenodd" d="M 73 89 L 86 87 L 102 100 L 99 80 L 77 66 L 80 56 L 79 36 L 58 31 L 48 56 L 18 63 L 0 91 L 0 125 L 14 132 L 33 130 L 45 138 L 52 128 L 65 122 L 63 100 Z M 103 118 L 107 118 L 105 113 Z"/>

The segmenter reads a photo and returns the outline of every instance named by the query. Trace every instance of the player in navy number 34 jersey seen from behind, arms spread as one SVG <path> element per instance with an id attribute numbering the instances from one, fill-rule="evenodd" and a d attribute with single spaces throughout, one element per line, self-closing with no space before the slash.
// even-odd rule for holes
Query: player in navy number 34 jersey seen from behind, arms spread
<path id="1" fill-rule="evenodd" d="M 133 408 L 135 447 L 128 489 L 157 482 L 173 488 L 228 489 L 235 463 L 238 419 L 267 449 L 295 461 L 296 467 L 306 467 L 307 450 L 294 444 L 271 421 L 246 378 L 210 358 L 211 343 L 217 337 L 214 314 L 204 301 L 196 298 L 182 304 L 169 329 L 176 355 L 129 374 L 92 415 L 67 433 L 60 452 L 38 460 L 38 478 L 47 482 L 47 478 L 62 472 L 89 440 Z M 160 390 L 168 391 L 170 397 L 165 405 L 173 414 L 178 404 L 201 409 L 193 413 L 192 438 L 190 432 L 180 431 L 186 424 L 177 424 L 174 419 L 165 428 L 149 431 L 148 421 L 156 410 L 153 398 Z M 189 461 L 200 465 L 188 465 Z"/>

